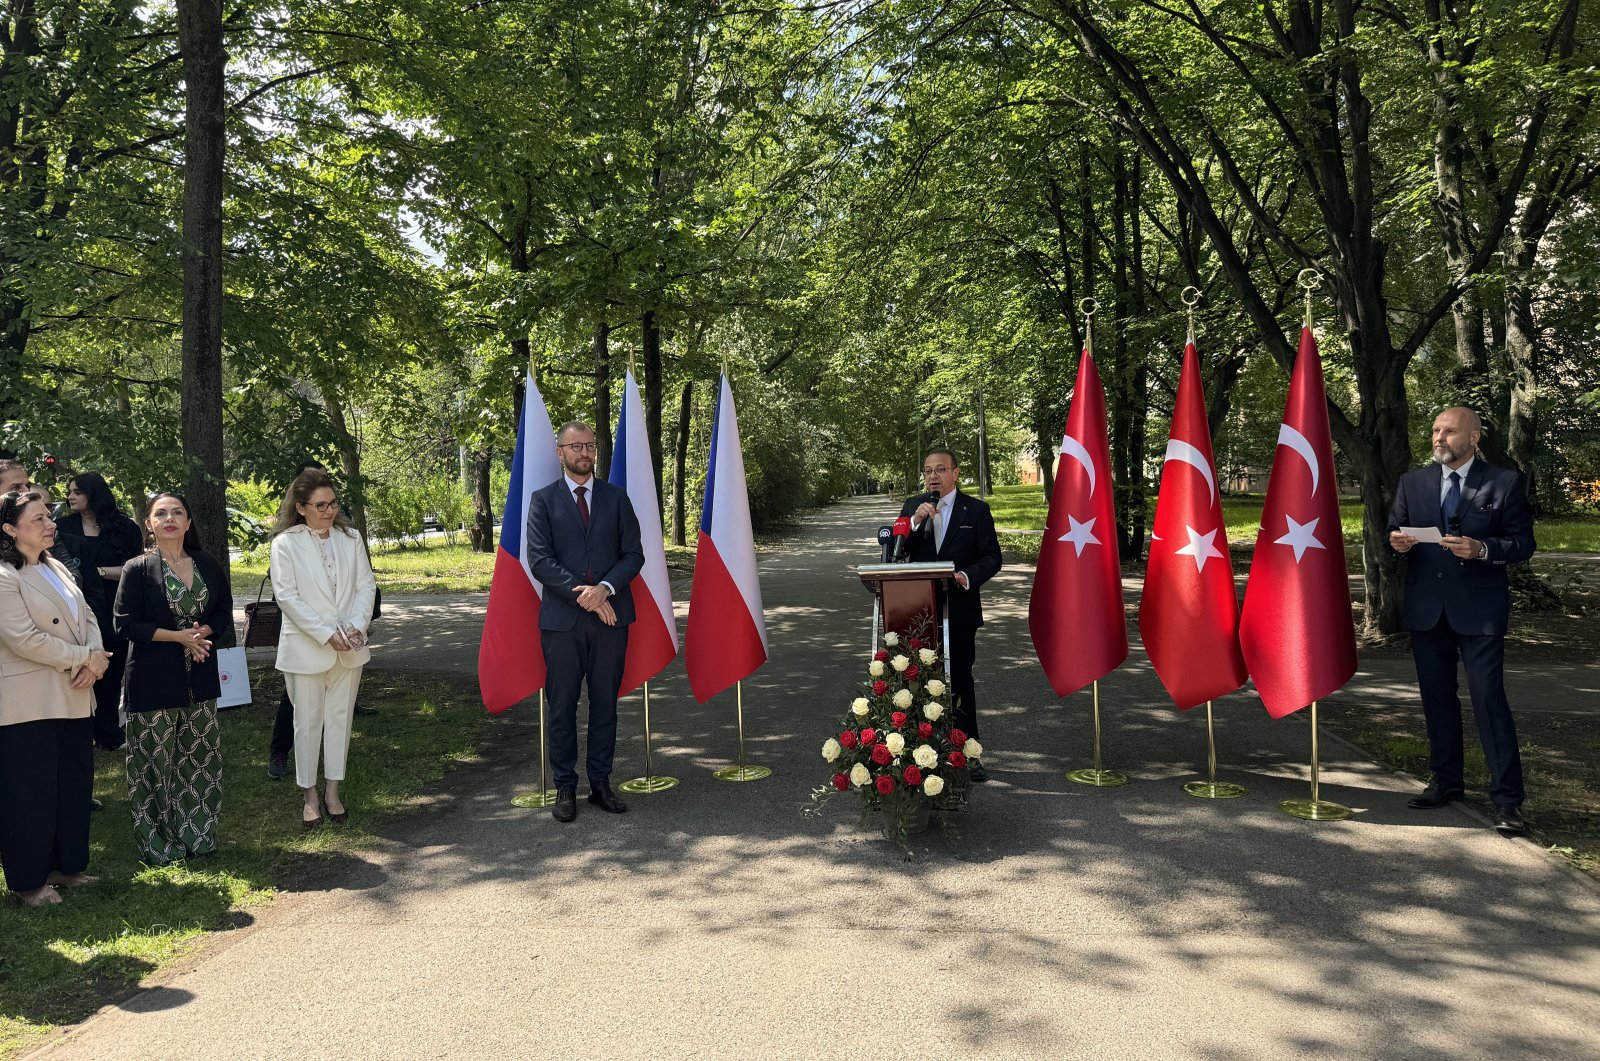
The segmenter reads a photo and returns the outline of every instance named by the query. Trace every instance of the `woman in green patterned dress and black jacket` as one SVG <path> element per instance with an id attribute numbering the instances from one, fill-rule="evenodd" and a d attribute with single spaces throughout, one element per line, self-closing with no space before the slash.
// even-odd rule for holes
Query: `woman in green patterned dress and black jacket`
<path id="1" fill-rule="evenodd" d="M 222 749 L 216 648 L 234 643 L 234 594 L 200 547 L 189 504 L 150 498 L 147 552 L 117 587 L 117 634 L 128 648 L 128 795 L 133 839 L 152 866 L 216 851 Z"/>

